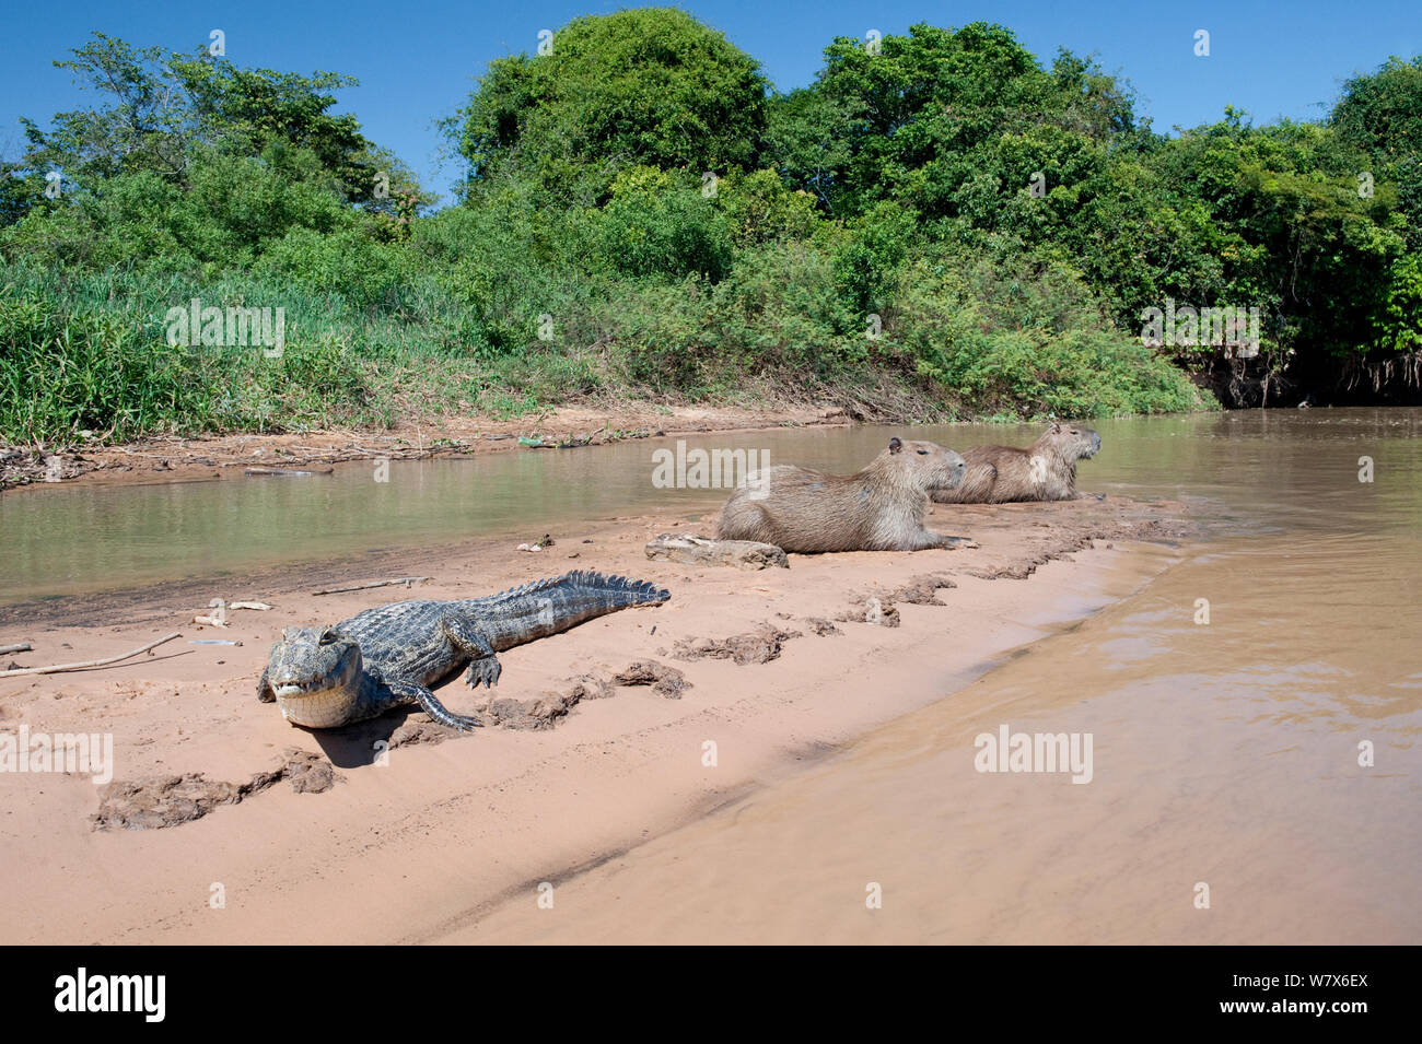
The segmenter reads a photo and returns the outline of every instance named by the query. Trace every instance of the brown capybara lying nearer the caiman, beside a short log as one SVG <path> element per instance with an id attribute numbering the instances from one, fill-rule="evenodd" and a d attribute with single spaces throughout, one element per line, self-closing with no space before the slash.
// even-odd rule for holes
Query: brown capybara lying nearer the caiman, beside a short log
<path id="1" fill-rule="evenodd" d="M 721 540 L 785 551 L 920 551 L 971 543 L 924 528 L 929 493 L 963 480 L 963 457 L 933 442 L 890 439 L 855 474 L 778 464 L 748 476 L 721 509 Z"/>

